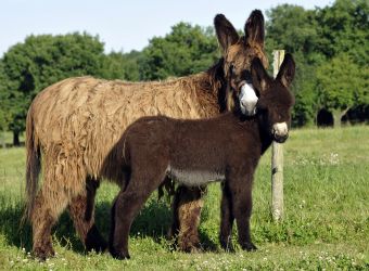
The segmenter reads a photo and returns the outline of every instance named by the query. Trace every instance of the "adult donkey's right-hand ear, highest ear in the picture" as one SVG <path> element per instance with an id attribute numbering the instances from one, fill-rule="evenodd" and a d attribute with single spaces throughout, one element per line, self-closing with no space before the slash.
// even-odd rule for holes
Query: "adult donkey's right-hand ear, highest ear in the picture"
<path id="1" fill-rule="evenodd" d="M 259 10 L 254 10 L 244 25 L 246 41 L 258 43 L 264 48 L 264 16 Z"/>

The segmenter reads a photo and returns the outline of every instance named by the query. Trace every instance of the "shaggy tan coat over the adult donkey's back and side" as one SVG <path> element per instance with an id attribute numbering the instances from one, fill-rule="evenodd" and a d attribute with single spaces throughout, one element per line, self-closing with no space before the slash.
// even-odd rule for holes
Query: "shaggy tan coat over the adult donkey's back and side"
<path id="1" fill-rule="evenodd" d="M 164 82 L 132 83 L 92 77 L 56 82 L 37 95 L 28 112 L 34 140 L 43 150 L 58 145 L 63 155 L 84 156 L 88 173 L 96 176 L 110 149 L 137 118 L 215 115 L 215 104 L 200 106 L 194 87 L 202 76 Z"/>

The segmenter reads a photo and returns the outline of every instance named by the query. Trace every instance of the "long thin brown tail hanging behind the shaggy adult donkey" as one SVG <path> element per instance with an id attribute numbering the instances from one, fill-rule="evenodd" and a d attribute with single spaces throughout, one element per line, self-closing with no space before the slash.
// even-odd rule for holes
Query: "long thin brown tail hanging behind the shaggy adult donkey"
<path id="1" fill-rule="evenodd" d="M 38 139 L 35 134 L 31 107 L 28 111 L 26 119 L 26 208 L 22 222 L 24 222 L 25 219 L 31 219 L 38 186 L 38 177 L 41 170 L 41 153 Z"/>

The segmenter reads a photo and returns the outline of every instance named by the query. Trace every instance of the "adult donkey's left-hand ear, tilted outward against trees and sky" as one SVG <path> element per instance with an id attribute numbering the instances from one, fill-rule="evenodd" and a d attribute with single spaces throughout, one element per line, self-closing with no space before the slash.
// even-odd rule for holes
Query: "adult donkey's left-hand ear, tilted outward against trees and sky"
<path id="1" fill-rule="evenodd" d="M 224 52 L 239 40 L 239 35 L 233 25 L 222 14 L 217 14 L 214 18 L 214 27 L 219 44 Z"/>

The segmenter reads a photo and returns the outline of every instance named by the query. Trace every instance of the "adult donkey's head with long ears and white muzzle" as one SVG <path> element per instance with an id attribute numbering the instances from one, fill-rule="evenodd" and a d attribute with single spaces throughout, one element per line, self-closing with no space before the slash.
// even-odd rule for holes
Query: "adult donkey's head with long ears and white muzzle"
<path id="1" fill-rule="evenodd" d="M 242 37 L 222 14 L 215 16 L 214 25 L 222 49 L 227 109 L 231 111 L 234 102 L 239 101 L 243 114 L 255 115 L 258 98 L 251 85 L 250 67 L 254 57 L 262 60 L 264 67 L 268 66 L 264 52 L 264 16 L 259 10 L 254 10 Z"/>

